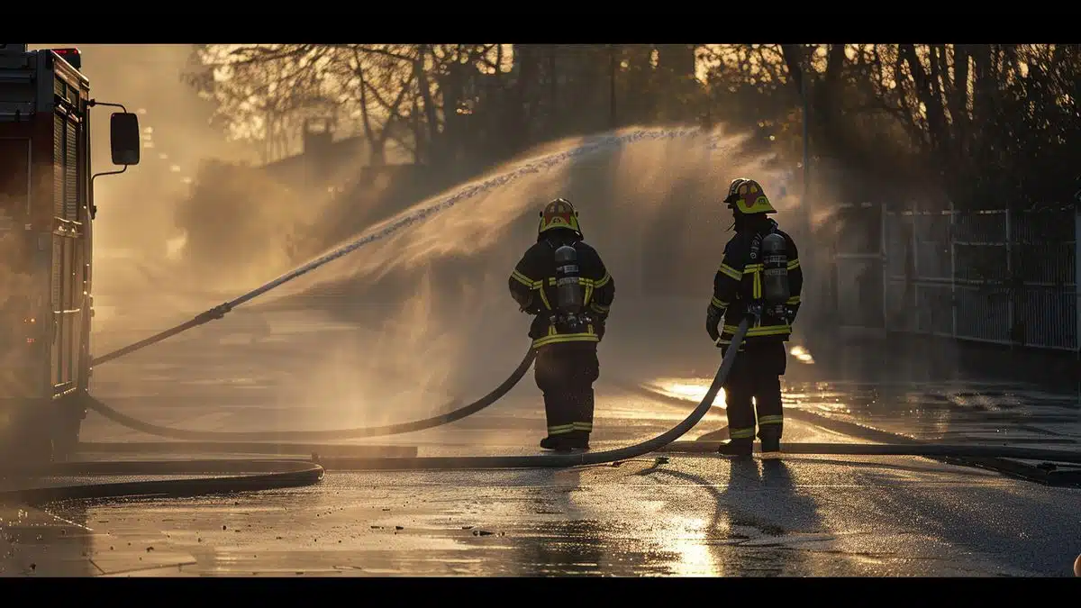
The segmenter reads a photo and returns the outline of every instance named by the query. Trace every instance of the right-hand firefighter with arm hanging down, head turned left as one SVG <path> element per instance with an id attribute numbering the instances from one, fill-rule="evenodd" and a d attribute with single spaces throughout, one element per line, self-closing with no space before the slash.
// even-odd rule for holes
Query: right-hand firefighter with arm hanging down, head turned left
<path id="1" fill-rule="evenodd" d="M 739 322 L 752 318 L 724 384 L 730 446 L 738 455 L 751 454 L 757 406 L 762 452 L 777 452 L 784 431 L 785 342 L 800 308 L 803 272 L 796 242 L 766 216 L 776 210 L 758 182 L 733 180 L 724 203 L 732 210 L 736 234 L 724 246 L 724 259 L 713 277 L 706 331 L 726 352 Z"/>

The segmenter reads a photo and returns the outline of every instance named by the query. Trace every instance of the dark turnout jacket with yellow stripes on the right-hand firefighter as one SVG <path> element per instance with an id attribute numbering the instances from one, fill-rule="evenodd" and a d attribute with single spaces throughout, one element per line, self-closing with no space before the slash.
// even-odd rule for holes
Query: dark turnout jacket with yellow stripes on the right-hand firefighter
<path id="1" fill-rule="evenodd" d="M 761 228 L 736 233 L 724 246 L 724 259 L 713 276 L 713 298 L 709 301 L 709 314 L 724 318 L 724 327 L 720 332 L 722 345 L 732 343 L 732 336 L 747 313 L 748 305 L 762 298 L 761 254 L 752 256 L 752 246 L 756 239 L 761 242 L 762 237 L 771 232 L 785 238 L 790 291 L 790 298 L 785 305 L 787 318 L 775 316 L 768 309 L 763 310 L 762 317 L 747 330 L 745 342 L 772 340 L 786 342 L 792 333 L 790 323 L 800 309 L 803 270 L 800 268 L 796 241 L 778 228 L 776 222 L 770 220 Z"/>

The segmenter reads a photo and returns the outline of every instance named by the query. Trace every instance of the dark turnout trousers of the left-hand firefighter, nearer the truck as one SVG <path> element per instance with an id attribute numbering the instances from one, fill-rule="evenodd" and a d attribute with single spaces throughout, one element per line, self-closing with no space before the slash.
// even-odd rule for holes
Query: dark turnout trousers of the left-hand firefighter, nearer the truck
<path id="1" fill-rule="evenodd" d="M 538 347 L 534 376 L 544 394 L 546 441 L 588 445 L 593 429 L 593 383 L 600 378 L 597 342 L 557 342 Z"/>

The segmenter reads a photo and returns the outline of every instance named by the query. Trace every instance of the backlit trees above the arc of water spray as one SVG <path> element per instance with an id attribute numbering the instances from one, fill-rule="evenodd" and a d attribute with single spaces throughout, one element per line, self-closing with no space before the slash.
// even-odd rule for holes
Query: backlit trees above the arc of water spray
<path id="1" fill-rule="evenodd" d="M 1068 44 L 204 45 L 189 81 L 268 161 L 332 117 L 371 161 L 479 170 L 630 124 L 725 123 L 815 163 L 956 207 L 1071 199 L 1081 48 Z M 803 107 L 806 107 L 804 123 Z"/>

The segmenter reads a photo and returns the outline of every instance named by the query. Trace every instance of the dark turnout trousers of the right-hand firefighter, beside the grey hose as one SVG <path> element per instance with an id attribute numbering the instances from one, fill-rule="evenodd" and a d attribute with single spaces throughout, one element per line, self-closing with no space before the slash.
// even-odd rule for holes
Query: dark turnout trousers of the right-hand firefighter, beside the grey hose
<path id="1" fill-rule="evenodd" d="M 788 359 L 779 340 L 756 341 L 744 345 L 724 382 L 729 437 L 742 453 L 750 453 L 755 440 L 755 409 L 758 408 L 758 437 L 762 451 L 780 449 L 784 412 L 780 402 L 780 376 Z M 753 404 L 751 400 L 753 399 Z"/>

